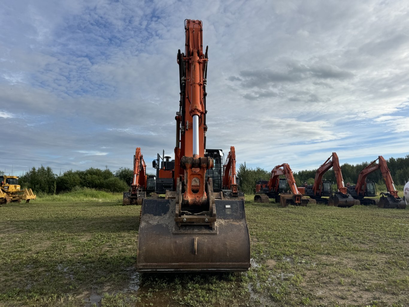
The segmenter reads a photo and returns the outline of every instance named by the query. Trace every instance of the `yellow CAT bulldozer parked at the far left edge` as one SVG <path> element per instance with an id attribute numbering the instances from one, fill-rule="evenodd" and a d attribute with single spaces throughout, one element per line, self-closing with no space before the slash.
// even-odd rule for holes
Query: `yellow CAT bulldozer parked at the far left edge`
<path id="1" fill-rule="evenodd" d="M 31 199 L 36 199 L 36 195 L 31 189 L 20 190 L 17 179 L 17 176 L 0 176 L 0 204 L 9 202 L 20 203 L 22 199 L 28 203 Z"/>

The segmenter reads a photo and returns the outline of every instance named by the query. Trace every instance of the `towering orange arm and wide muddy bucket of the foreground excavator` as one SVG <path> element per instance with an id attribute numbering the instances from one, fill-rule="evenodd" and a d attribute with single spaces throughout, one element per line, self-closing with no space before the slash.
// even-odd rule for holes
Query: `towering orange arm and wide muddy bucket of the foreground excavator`
<path id="1" fill-rule="evenodd" d="M 174 191 L 144 199 L 137 244 L 139 271 L 246 271 L 250 239 L 243 199 L 216 199 L 206 156 L 207 50 L 202 22 L 185 20 L 178 51 L 180 103 L 176 113 Z"/>

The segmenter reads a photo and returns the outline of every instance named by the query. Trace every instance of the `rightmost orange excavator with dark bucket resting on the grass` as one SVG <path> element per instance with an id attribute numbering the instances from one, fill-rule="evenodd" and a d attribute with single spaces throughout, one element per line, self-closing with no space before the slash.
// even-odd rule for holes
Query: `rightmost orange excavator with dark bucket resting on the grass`
<path id="1" fill-rule="evenodd" d="M 378 161 L 378 163 L 376 163 L 376 161 Z M 378 169 L 382 173 L 382 178 L 385 181 L 388 192 L 381 192 L 379 200 L 365 198 L 376 196 L 375 182 L 373 180 L 366 180 L 366 177 Z M 382 156 L 378 156 L 377 159 L 362 169 L 358 175 L 357 184 L 349 186 L 348 193 L 350 193 L 354 199 L 358 199 L 362 205 L 378 205 L 380 208 L 406 208 L 405 201 L 398 196 L 398 191 L 393 184 L 391 172 L 389 171 L 386 160 Z"/>

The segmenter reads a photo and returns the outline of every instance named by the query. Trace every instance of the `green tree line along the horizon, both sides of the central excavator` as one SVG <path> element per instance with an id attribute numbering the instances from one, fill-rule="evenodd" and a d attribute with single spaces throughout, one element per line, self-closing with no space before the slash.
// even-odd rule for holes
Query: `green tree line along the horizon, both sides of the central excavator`
<path id="1" fill-rule="evenodd" d="M 409 155 L 406 155 L 405 158 L 389 158 L 387 163 L 396 185 L 404 185 L 409 178 Z M 345 183 L 355 184 L 358 174 L 368 165 L 369 162 L 356 165 L 344 163 L 341 165 Z M 317 169 L 294 172 L 293 176 L 297 186 L 302 186 L 304 181 L 307 181 L 308 184 L 314 183 L 316 171 Z M 260 167 L 250 168 L 247 167 L 246 163 L 240 164 L 237 170 L 240 189 L 245 193 L 254 193 L 256 181 L 261 179 L 268 180 L 270 175 L 271 170 Z M 63 174 L 55 174 L 51 167 L 41 165 L 38 168 L 31 168 L 20 176 L 19 184 L 22 187 L 31 188 L 36 193 L 43 192 L 49 194 L 69 192 L 75 187 L 88 187 L 109 192 L 124 192 L 128 191 L 132 178 L 133 170 L 127 167 L 121 167 L 115 172 L 110 171 L 108 167 L 105 169 L 91 167 L 84 171 L 73 171 L 71 169 Z M 336 181 L 333 169 L 326 172 L 324 179 Z M 369 174 L 367 179 L 374 180 L 383 185 L 380 171 Z"/>

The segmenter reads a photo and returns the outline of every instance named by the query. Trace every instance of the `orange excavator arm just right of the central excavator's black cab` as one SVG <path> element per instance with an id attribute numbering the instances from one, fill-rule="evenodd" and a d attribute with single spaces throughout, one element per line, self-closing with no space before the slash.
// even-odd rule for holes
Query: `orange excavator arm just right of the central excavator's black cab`
<path id="1" fill-rule="evenodd" d="M 236 181 L 236 151 L 234 146 L 230 147 L 225 164 L 223 165 L 222 197 L 226 199 L 244 199 L 244 193 L 238 190 Z"/>

